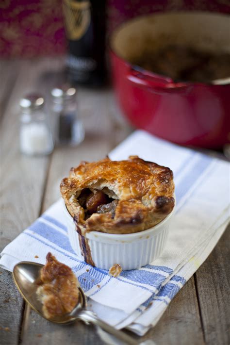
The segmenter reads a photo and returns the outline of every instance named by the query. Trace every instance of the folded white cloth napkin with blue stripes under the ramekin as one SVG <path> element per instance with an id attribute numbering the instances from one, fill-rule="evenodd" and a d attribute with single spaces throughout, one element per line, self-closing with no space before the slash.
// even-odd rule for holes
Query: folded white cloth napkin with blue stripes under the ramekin
<path id="1" fill-rule="evenodd" d="M 229 220 L 230 164 L 135 131 L 110 153 L 169 166 L 176 185 L 176 212 L 162 256 L 140 269 L 108 271 L 80 261 L 72 250 L 61 200 L 6 246 L 0 265 L 12 271 L 20 261 L 45 263 L 48 251 L 69 265 L 88 296 L 88 306 L 117 329 L 143 335 L 213 250 Z"/>

